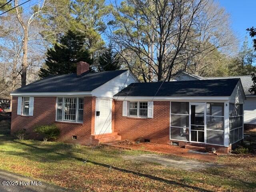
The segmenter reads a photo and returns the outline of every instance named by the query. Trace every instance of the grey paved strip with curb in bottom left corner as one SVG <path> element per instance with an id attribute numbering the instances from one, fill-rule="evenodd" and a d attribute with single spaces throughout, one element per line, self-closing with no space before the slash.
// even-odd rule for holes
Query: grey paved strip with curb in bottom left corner
<path id="1" fill-rule="evenodd" d="M 12 181 L 9 185 L 7 181 Z M 74 192 L 60 186 L 38 182 L 33 178 L 0 170 L 0 192 Z"/>

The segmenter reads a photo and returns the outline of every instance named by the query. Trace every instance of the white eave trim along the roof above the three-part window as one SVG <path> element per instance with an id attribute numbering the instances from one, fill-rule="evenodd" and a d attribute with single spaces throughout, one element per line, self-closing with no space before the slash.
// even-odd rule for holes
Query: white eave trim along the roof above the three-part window
<path id="1" fill-rule="evenodd" d="M 76 96 L 76 95 L 87 95 L 91 96 L 91 91 L 85 92 L 30 92 L 30 93 L 11 93 L 11 96 Z"/>

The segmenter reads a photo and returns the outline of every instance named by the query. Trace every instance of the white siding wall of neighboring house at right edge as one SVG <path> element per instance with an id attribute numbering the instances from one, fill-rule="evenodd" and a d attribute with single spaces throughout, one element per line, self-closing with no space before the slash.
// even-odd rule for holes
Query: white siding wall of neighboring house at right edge
<path id="1" fill-rule="evenodd" d="M 256 124 L 256 97 L 247 97 L 244 101 L 244 123 Z"/>

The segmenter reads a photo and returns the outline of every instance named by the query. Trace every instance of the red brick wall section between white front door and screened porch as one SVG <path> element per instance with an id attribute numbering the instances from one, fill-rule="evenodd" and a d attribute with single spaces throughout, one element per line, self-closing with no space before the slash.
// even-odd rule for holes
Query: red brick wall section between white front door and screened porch
<path id="1" fill-rule="evenodd" d="M 122 140 L 150 139 L 150 142 L 169 144 L 170 102 L 154 101 L 154 118 L 136 118 L 122 116 L 122 101 L 114 100 L 114 132 Z"/>

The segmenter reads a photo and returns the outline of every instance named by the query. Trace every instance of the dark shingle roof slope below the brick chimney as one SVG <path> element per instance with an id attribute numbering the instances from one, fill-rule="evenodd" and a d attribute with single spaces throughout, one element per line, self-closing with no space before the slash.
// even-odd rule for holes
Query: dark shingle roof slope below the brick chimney
<path id="1" fill-rule="evenodd" d="M 76 74 L 51 76 L 28 84 L 12 93 L 92 91 L 125 71 L 127 70 L 84 73 L 81 76 Z"/>

